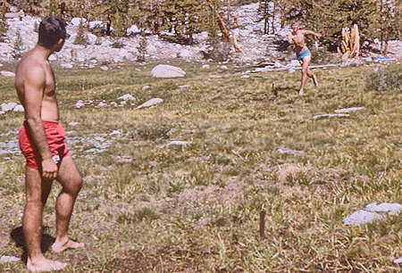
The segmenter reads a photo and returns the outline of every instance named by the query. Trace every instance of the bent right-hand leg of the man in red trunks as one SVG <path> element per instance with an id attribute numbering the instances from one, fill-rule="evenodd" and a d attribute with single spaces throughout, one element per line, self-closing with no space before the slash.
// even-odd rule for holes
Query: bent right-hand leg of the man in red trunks
<path id="1" fill-rule="evenodd" d="M 63 252 L 67 248 L 84 246 L 72 241 L 68 235 L 72 209 L 82 186 L 80 171 L 77 169 L 71 155 L 63 158 L 57 180 L 62 184 L 62 192 L 56 202 L 56 240 L 52 245 L 54 252 Z"/>

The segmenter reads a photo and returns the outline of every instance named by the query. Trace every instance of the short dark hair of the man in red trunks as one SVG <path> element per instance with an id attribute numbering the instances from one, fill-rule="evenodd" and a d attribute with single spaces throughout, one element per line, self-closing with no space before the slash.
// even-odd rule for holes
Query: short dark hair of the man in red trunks
<path id="1" fill-rule="evenodd" d="M 47 16 L 40 22 L 38 45 L 52 47 L 60 38 L 65 38 L 65 21 L 59 16 Z"/>

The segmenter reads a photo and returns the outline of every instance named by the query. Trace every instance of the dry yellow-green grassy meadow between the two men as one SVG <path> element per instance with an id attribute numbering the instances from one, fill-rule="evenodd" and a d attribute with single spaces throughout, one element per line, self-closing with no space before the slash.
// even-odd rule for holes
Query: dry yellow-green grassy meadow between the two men
<path id="1" fill-rule="evenodd" d="M 175 64 L 186 78 L 153 79 L 152 65 L 54 69 L 85 183 L 71 237 L 86 246 L 48 249 L 54 183 L 48 257 L 68 261 L 65 272 L 399 272 L 400 214 L 358 227 L 342 220 L 368 203 L 402 203 L 400 89 L 367 88 L 373 66 L 316 70 L 320 87 L 309 80 L 301 97 L 298 71 L 245 79 L 246 67 Z M 136 101 L 121 105 L 125 94 Z M 13 79 L 0 77 L 0 96 L 17 102 Z M 136 109 L 153 97 L 163 103 Z M 355 106 L 364 109 L 313 119 Z M 0 142 L 17 145 L 22 121 L 21 112 L 0 115 Z M 21 154 L 2 154 L 0 256 L 24 256 L 24 166 Z M 23 270 L 23 262 L 0 264 Z"/>

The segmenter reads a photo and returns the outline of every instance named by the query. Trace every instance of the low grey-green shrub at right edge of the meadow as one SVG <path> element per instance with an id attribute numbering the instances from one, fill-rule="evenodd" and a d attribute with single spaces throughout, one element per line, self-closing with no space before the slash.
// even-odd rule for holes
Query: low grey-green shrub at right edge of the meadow
<path id="1" fill-rule="evenodd" d="M 380 70 L 374 70 L 365 76 L 365 91 L 390 91 L 402 89 L 402 65 L 389 65 Z"/>

